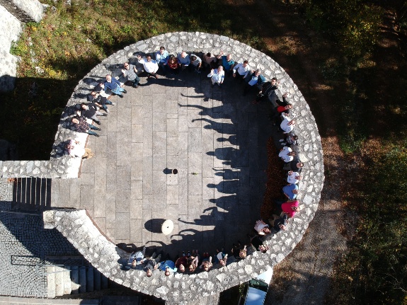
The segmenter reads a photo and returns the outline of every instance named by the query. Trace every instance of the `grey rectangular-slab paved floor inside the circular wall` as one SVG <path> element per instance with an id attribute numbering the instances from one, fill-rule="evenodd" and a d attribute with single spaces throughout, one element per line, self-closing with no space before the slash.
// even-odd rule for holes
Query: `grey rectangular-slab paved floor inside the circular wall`
<path id="1" fill-rule="evenodd" d="M 255 92 L 242 96 L 232 78 L 212 88 L 206 74 L 185 71 L 141 84 L 112 98 L 81 177 L 52 180 L 52 206 L 87 209 L 115 243 L 171 254 L 246 241 L 265 190 L 270 105 L 253 105 Z"/>

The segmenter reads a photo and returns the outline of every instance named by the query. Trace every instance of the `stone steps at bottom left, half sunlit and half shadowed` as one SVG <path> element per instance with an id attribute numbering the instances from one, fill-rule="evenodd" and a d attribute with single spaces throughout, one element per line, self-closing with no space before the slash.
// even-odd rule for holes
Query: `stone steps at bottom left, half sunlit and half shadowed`
<path id="1" fill-rule="evenodd" d="M 93 292 L 109 287 L 108 278 L 92 266 L 47 265 L 47 297 Z"/>

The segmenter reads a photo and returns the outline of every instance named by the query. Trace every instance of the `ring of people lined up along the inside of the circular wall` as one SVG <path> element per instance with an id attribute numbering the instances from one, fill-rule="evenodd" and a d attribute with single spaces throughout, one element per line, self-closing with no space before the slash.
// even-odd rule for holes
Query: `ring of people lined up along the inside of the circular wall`
<path id="1" fill-rule="evenodd" d="M 268 251 L 268 246 L 265 245 L 265 240 L 270 234 L 276 234 L 281 230 L 286 230 L 289 219 L 292 219 L 296 213 L 300 211 L 298 183 L 301 180 L 301 169 L 304 163 L 299 161 L 298 152 L 298 137 L 294 134 L 296 121 L 292 119 L 290 112 L 292 104 L 287 100 L 287 93 L 282 95 L 282 100 L 277 96 L 279 82 L 273 78 L 266 81 L 265 76 L 261 74 L 260 69 L 251 69 L 248 60 L 243 62 L 234 62 L 231 54 L 221 52 L 218 55 L 213 55 L 210 52 L 203 54 L 202 59 L 197 54 L 188 54 L 180 52 L 179 54 L 169 54 L 165 47 L 160 47 L 154 54 L 146 54 L 145 57 L 137 55 L 137 63 L 142 64 L 143 72 L 148 77 L 159 78 L 157 75 L 159 69 L 165 75 L 179 74 L 184 70 L 200 74 L 202 71 L 209 71 L 207 78 L 210 79 L 212 87 L 222 86 L 225 77 L 233 77 L 236 82 L 243 86 L 242 94 L 258 88 L 256 97 L 253 98 L 253 104 L 261 102 L 270 102 L 271 112 L 270 120 L 273 125 L 281 132 L 282 137 L 279 158 L 283 163 L 283 169 L 287 171 L 287 182 L 282 187 L 281 200 L 275 200 L 275 214 L 270 215 L 269 219 L 260 219 L 256 221 L 253 227 L 253 234 L 248 234 L 249 242 L 242 244 L 240 241 L 233 243 L 230 254 L 234 260 L 241 260 L 254 251 L 265 253 Z M 98 83 L 95 88 L 88 94 L 88 103 L 81 103 L 76 116 L 71 118 L 71 127 L 76 132 L 86 132 L 87 134 L 98 137 L 94 130 L 101 130 L 100 127 L 93 125 L 101 125 L 98 120 L 99 116 L 108 115 L 108 105 L 114 105 L 108 99 L 111 94 L 123 97 L 127 91 L 123 88 L 124 84 L 132 84 L 134 88 L 139 88 L 140 78 L 136 64 L 125 62 L 120 70 L 121 74 L 118 79 L 108 74 L 105 76 L 105 81 Z M 104 111 L 102 113 L 101 111 Z M 81 156 L 83 158 L 91 158 L 93 153 L 91 149 L 81 148 L 81 144 L 76 140 L 70 140 L 66 149 L 71 156 Z M 210 253 L 202 253 L 193 250 L 183 252 L 174 260 L 171 260 L 167 254 L 164 260 L 164 253 L 157 255 L 156 251 L 149 256 L 146 256 L 146 248 L 141 251 L 134 251 L 130 254 L 126 267 L 142 268 L 146 271 L 147 277 L 150 277 L 154 270 L 162 270 L 168 276 L 173 272 L 196 272 L 197 270 L 209 271 L 212 267 L 223 267 L 228 263 L 228 251 L 224 248 L 221 251 L 216 251 L 214 255 Z M 230 262 L 231 260 L 229 260 Z"/>

